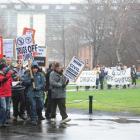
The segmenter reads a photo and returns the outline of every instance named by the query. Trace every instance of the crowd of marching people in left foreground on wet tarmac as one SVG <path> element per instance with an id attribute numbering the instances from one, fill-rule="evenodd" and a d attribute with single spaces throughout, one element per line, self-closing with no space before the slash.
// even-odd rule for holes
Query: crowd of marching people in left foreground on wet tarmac
<path id="1" fill-rule="evenodd" d="M 66 112 L 69 80 L 63 75 L 60 63 L 50 64 L 45 73 L 36 61 L 28 68 L 21 61 L 15 66 L 11 62 L 10 58 L 0 59 L 0 128 L 9 126 L 9 120 L 17 122 L 19 118 L 32 125 L 45 118 L 55 123 L 57 106 L 62 117 L 60 123 L 71 120 Z"/>

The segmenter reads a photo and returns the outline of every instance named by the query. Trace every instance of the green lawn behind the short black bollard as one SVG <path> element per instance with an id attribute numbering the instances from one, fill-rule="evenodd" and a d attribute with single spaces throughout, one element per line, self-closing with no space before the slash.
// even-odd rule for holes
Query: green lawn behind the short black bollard
<path id="1" fill-rule="evenodd" d="M 140 89 L 111 89 L 67 93 L 67 107 L 88 109 L 89 95 L 93 95 L 93 110 L 132 112 L 140 114 Z"/>

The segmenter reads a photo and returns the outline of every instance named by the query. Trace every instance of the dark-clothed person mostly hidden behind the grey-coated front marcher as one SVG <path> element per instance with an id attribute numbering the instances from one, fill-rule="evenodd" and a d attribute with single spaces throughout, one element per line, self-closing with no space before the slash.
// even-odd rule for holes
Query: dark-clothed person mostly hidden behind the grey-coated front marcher
<path id="1" fill-rule="evenodd" d="M 49 64 L 49 68 L 47 69 L 46 72 L 46 92 L 47 92 L 47 97 L 45 100 L 45 117 L 46 119 L 50 119 L 51 118 L 51 89 L 50 89 L 50 73 L 53 71 L 54 69 L 54 63 Z"/>

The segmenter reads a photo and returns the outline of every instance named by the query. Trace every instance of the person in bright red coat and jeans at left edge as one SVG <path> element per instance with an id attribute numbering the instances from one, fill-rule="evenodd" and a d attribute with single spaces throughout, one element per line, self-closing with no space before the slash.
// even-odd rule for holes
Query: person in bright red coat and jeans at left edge
<path id="1" fill-rule="evenodd" d="M 4 59 L 0 59 L 0 127 L 7 126 L 10 114 L 10 99 L 12 95 L 12 71 L 6 66 Z"/>

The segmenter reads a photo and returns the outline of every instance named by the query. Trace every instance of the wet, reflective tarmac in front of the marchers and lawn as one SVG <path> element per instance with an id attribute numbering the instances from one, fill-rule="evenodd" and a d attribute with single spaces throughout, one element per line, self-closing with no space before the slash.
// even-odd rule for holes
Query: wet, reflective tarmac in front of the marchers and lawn
<path id="1" fill-rule="evenodd" d="M 140 140 L 140 116 L 71 111 L 69 117 L 63 125 L 59 113 L 56 124 L 43 120 L 32 126 L 19 120 L 0 129 L 0 140 Z"/>

